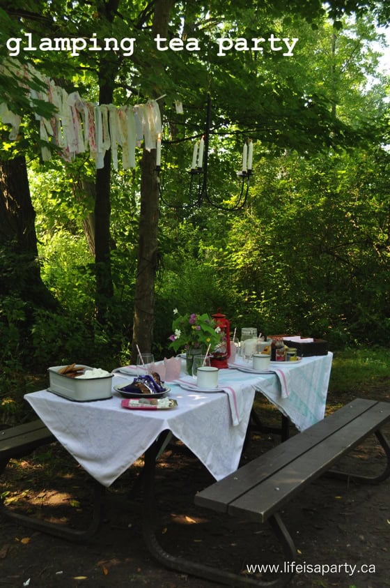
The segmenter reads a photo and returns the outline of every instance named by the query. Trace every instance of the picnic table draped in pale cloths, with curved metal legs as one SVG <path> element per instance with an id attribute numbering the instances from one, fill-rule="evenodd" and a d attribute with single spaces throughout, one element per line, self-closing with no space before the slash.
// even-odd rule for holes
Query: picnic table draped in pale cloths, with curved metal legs
<path id="1" fill-rule="evenodd" d="M 194 379 L 182 374 L 178 381 L 167 383 L 169 397 L 176 400 L 177 406 L 166 410 L 123 408 L 116 387 L 130 382 L 132 376 L 118 371 L 112 381 L 112 397 L 107 400 L 72 402 L 48 390 L 26 394 L 25 398 L 45 425 L 45 439 L 42 439 L 51 439 L 53 435 L 95 479 L 97 488 L 109 487 L 144 455 L 143 534 L 150 552 L 166 566 L 212 578 L 213 572 L 207 566 L 205 573 L 199 573 L 196 566 L 194 569 L 187 562 L 177 561 L 157 543 L 153 486 L 159 452 L 172 435 L 196 455 L 216 481 L 223 483 L 240 465 L 255 395 L 264 395 L 299 431 L 310 430 L 325 414 L 331 361 L 329 352 L 290 365 L 273 364 L 272 372 L 262 374 L 242 369 L 245 365 L 242 368 L 235 365 L 235 369 L 220 370 L 221 391 L 213 392 L 192 389 Z M 95 493 L 95 499 L 100 508 L 99 492 Z M 22 516 L 20 521 L 28 524 L 27 519 Z M 96 520 L 95 509 L 91 528 L 84 534 L 75 534 L 72 529 L 69 533 L 66 529 L 56 533 L 54 527 L 60 525 L 45 522 L 33 525 L 78 541 L 95 529 Z M 278 520 L 277 515 L 273 520 Z M 224 573 L 218 579 L 231 582 Z"/>

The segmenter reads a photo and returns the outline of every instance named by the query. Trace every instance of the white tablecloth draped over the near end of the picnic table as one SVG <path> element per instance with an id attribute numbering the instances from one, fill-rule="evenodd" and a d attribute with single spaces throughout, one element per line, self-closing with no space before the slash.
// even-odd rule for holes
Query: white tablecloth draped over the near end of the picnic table
<path id="1" fill-rule="evenodd" d="M 175 398 L 178 407 L 169 410 L 124 409 L 115 390 L 112 398 L 97 402 L 72 402 L 47 390 L 24 398 L 102 485 L 111 485 L 164 430 L 171 430 L 219 480 L 238 467 L 253 405 L 256 377 L 242 380 L 241 388 L 236 388 L 242 409 L 238 425 L 233 425 L 227 394 L 189 392 L 177 384 L 169 384 L 169 398 Z M 125 383 L 114 376 L 113 386 Z"/>

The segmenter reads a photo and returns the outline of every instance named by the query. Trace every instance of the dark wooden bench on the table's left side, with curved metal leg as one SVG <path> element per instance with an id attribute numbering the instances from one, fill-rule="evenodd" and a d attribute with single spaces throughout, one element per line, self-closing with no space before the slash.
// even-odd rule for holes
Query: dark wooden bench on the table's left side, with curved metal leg
<path id="1" fill-rule="evenodd" d="M 11 459 L 23 458 L 42 445 L 56 441 L 56 437 L 42 423 L 40 419 L 16 425 L 0 431 L 0 474 L 6 469 Z M 26 525 L 38 531 L 49 533 L 71 541 L 82 541 L 91 536 L 100 523 L 102 504 L 102 486 L 98 482 L 94 485 L 93 515 L 87 529 L 72 529 L 65 525 L 47 522 L 29 515 L 17 513 L 8 508 L 0 500 L 0 513 L 6 515 L 21 525 Z"/>

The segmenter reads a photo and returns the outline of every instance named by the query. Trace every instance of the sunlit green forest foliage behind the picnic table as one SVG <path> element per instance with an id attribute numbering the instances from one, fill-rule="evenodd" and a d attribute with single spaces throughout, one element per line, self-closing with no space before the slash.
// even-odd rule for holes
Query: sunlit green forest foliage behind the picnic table
<path id="1" fill-rule="evenodd" d="M 155 97 L 155 86 L 164 89 L 155 356 L 171 354 L 174 308 L 183 314 L 221 309 L 232 329 L 302 333 L 326 338 L 331 349 L 389 345 L 389 77 L 378 70 L 380 51 L 373 45 L 380 42 L 376 24 L 387 22 L 387 4 L 335 1 L 328 13 L 309 0 L 261 8 L 226 2 L 224 11 L 214 2 L 208 8 L 166 4 L 170 37 L 196 37 L 203 50 L 157 52 L 150 36 L 153 3 L 39 2 L 41 20 L 31 16 L 37 3 L 15 1 L 0 11 L 3 62 L 6 38 L 29 30 L 53 36 L 61 22 L 68 36 L 137 36 L 131 59 L 110 56 L 116 104 Z M 104 18 L 103 5 L 115 5 L 114 21 Z M 345 12 L 359 7 L 370 11 Z M 272 32 L 299 37 L 294 56 L 268 49 L 261 56 L 233 50 L 218 57 L 212 50 L 221 35 L 268 38 Z M 98 100 L 102 63 L 95 56 L 37 51 L 19 58 Z M 86 233 L 95 211 L 93 191 L 85 190 L 95 180 L 91 160 L 77 156 L 65 163 L 54 156 L 42 162 L 31 105 L 9 79 L 6 91 L 1 87 L 0 102 L 14 100 L 23 118 L 15 141 L 3 124 L 0 159 L 26 158 L 40 277 L 56 302 L 50 308 L 29 299 L 31 259 L 1 239 L 1 372 L 7 377 L 15 369 L 45 370 L 67 361 L 114 368 L 131 354 L 140 167 L 111 168 L 112 295 L 103 320 L 96 314 L 96 259 Z M 189 194 L 188 171 L 194 140 L 204 132 L 208 96 L 208 193 L 198 202 Z M 177 100 L 184 114 L 176 112 Z M 235 209 L 242 146 L 249 138 L 253 176 L 245 206 Z"/>

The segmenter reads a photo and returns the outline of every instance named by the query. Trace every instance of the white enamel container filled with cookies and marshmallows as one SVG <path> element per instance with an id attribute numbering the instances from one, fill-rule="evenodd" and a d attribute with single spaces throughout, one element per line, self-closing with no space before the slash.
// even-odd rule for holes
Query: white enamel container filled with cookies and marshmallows
<path id="1" fill-rule="evenodd" d="M 92 400 L 105 400 L 111 398 L 112 374 L 96 378 L 72 378 L 59 374 L 59 370 L 65 365 L 54 365 L 48 369 L 49 391 L 54 392 L 75 402 L 91 402 Z M 92 370 L 88 365 L 77 364 L 84 370 Z"/>

